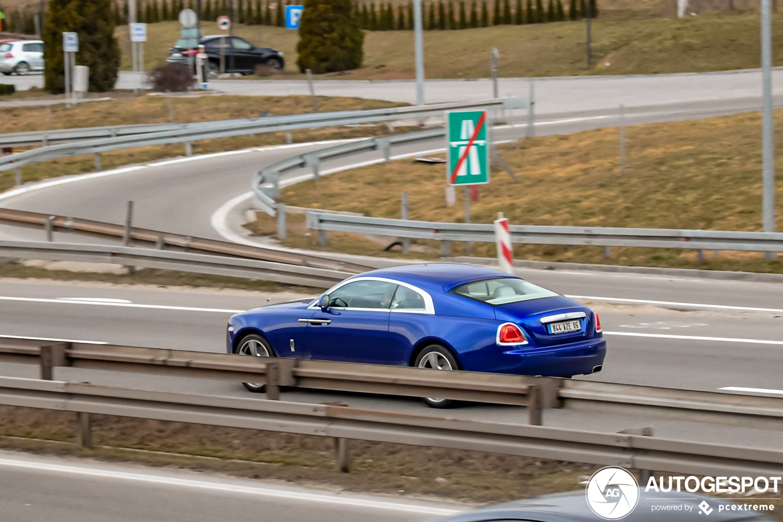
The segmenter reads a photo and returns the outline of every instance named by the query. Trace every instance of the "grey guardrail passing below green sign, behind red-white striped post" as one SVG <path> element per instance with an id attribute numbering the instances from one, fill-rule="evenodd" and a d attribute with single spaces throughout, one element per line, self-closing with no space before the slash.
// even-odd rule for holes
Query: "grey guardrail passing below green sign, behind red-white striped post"
<path id="1" fill-rule="evenodd" d="M 438 223 L 308 211 L 308 229 L 358 232 L 442 241 L 448 255 L 450 241 L 494 243 L 492 224 Z M 511 225 L 512 243 L 594 245 L 599 247 L 687 248 L 694 250 L 748 250 L 783 252 L 783 232 L 725 230 L 621 229 L 606 227 Z"/>

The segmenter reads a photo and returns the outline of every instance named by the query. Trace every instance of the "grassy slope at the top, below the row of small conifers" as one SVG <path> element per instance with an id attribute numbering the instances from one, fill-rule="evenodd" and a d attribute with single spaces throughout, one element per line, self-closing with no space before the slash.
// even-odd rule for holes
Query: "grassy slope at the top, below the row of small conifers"
<path id="1" fill-rule="evenodd" d="M 203 26 L 204 34 L 218 33 L 215 23 L 204 22 Z M 702 13 L 682 19 L 644 20 L 602 15 L 593 23 L 597 65 L 590 70 L 586 67 L 583 22 L 425 31 L 424 63 L 428 78 L 489 77 L 489 56 L 496 47 L 500 51 L 502 77 L 745 69 L 759 67 L 759 31 L 755 14 Z M 774 16 L 773 31 L 783 33 L 783 13 Z M 296 67 L 298 31 L 236 25 L 234 34 L 255 45 L 285 52 L 286 74 L 276 78 L 303 77 Z M 128 28 L 118 27 L 117 37 L 123 49 L 121 70 L 129 70 Z M 179 38 L 179 23 L 150 24 L 148 38 L 144 56 L 146 69 L 150 70 L 164 63 L 168 48 Z M 774 65 L 783 65 L 783 40 L 778 38 L 773 45 Z M 364 67 L 318 76 L 327 80 L 413 77 L 413 31 L 367 31 Z"/>

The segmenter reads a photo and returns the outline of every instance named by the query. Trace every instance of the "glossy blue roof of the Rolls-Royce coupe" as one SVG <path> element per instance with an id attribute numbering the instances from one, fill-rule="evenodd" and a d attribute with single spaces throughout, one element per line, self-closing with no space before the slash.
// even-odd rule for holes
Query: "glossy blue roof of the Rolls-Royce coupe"
<path id="1" fill-rule="evenodd" d="M 500 272 L 494 268 L 462 265 L 459 263 L 420 263 L 417 265 L 402 265 L 389 268 L 381 268 L 366 272 L 362 276 L 388 277 L 405 283 L 418 286 L 440 286 L 446 292 L 463 283 L 470 283 L 478 279 L 490 279 L 496 277 L 515 278 Z"/>

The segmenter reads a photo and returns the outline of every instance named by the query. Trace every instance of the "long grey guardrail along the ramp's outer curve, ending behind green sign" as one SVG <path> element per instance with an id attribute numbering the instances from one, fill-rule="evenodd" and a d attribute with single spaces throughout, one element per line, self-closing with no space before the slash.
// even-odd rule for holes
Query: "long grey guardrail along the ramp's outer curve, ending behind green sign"
<path id="1" fill-rule="evenodd" d="M 406 106 L 390 109 L 348 110 L 332 113 L 294 114 L 277 117 L 246 118 L 241 120 L 205 121 L 188 124 L 186 128 L 145 132 L 142 134 L 117 135 L 114 138 L 86 139 L 84 141 L 42 146 L 23 153 L 0 157 L 0 171 L 37 161 L 58 157 L 99 154 L 110 150 L 135 147 L 194 142 L 202 139 L 227 138 L 231 136 L 261 134 L 263 132 L 291 131 L 299 128 L 332 127 L 337 125 L 361 124 L 370 121 L 396 121 L 401 119 L 423 120 L 437 116 L 446 110 L 471 108 L 514 109 L 524 106 L 518 98 L 489 99 L 475 102 L 437 103 L 425 106 Z M 116 127 L 106 128 L 113 132 Z M 22 138 L 24 139 L 24 138 Z M 3 138 L 0 135 L 0 142 Z M 41 142 L 43 135 L 41 135 Z M 99 160 L 96 158 L 96 167 Z"/>

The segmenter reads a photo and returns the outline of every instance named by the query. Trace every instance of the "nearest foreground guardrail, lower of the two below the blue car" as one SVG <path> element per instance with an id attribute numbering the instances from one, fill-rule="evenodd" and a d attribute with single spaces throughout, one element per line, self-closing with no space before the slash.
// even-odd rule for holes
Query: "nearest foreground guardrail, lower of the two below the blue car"
<path id="1" fill-rule="evenodd" d="M 130 390 L 88 383 L 0 377 L 0 404 L 77 412 L 79 439 L 86 446 L 91 440 L 89 415 L 99 414 L 525 455 L 689 475 L 756 477 L 775 475 L 783 469 L 783 453 L 778 450 L 344 406 Z"/>

